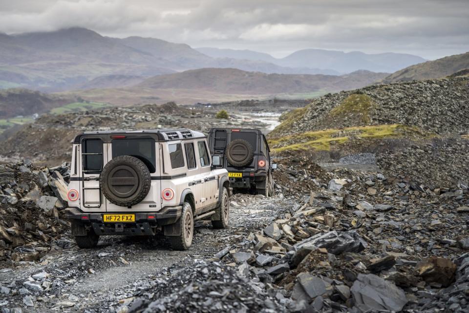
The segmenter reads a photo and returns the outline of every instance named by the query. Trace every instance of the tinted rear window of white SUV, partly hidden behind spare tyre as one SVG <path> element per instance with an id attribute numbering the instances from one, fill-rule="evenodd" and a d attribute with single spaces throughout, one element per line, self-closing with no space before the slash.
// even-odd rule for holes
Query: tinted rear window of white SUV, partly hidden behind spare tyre
<path id="1" fill-rule="evenodd" d="M 147 165 L 150 173 L 156 170 L 155 140 L 153 139 L 114 139 L 112 157 L 135 156 Z"/>

